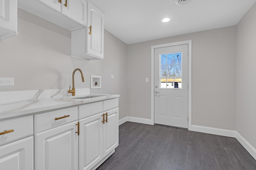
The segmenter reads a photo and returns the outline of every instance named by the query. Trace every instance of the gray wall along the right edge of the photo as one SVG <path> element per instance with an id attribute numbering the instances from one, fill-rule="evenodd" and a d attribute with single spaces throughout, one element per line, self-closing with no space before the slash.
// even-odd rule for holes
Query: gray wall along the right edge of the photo
<path id="1" fill-rule="evenodd" d="M 236 131 L 256 148 L 256 4 L 236 31 Z"/>

